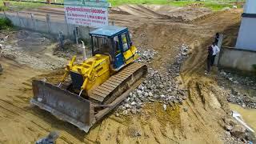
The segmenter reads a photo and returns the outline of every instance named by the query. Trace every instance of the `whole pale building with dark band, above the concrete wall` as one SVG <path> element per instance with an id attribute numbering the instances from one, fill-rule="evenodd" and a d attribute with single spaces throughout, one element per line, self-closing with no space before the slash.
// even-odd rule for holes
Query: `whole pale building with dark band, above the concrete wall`
<path id="1" fill-rule="evenodd" d="M 256 51 L 256 0 L 246 0 L 236 48 Z"/>

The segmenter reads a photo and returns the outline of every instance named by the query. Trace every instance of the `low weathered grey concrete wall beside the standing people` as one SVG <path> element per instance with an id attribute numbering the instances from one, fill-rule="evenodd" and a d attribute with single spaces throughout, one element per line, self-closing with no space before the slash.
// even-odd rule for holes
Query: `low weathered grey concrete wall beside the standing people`
<path id="1" fill-rule="evenodd" d="M 256 65 L 256 51 L 222 46 L 218 59 L 218 67 L 252 72 L 253 65 Z"/>

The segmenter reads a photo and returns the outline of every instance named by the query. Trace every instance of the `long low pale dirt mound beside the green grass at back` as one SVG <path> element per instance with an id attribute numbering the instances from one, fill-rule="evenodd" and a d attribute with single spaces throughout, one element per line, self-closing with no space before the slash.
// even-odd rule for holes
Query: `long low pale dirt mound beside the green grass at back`
<path id="1" fill-rule="evenodd" d="M 166 19 L 172 22 L 190 22 L 194 18 L 212 13 L 205 8 L 155 6 L 155 5 L 124 5 L 114 7 L 110 14 L 133 15 L 141 18 Z"/>

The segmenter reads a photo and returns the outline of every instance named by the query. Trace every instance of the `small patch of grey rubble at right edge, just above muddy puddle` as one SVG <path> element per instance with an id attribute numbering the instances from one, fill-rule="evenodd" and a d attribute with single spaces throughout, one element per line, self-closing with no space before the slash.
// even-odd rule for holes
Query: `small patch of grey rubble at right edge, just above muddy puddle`
<path id="1" fill-rule="evenodd" d="M 236 90 L 231 90 L 227 97 L 228 102 L 238 104 L 242 107 L 256 109 L 256 98 L 250 98 L 246 94 L 240 94 Z"/>

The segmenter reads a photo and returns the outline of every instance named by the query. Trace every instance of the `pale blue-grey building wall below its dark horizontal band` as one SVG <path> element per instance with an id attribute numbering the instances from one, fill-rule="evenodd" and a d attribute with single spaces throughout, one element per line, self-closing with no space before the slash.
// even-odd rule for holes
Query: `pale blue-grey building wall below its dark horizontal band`
<path id="1" fill-rule="evenodd" d="M 256 51 L 256 18 L 242 17 L 235 47 L 238 49 Z"/>

